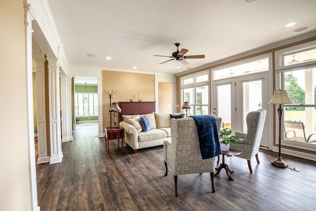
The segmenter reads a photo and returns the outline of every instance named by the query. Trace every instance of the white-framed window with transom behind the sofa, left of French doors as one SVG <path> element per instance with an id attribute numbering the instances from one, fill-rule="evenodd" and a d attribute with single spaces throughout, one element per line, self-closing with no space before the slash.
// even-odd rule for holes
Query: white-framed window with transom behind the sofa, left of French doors
<path id="1" fill-rule="evenodd" d="M 181 78 L 182 104 L 188 101 L 190 115 L 207 115 L 209 110 L 209 73 L 204 71 L 195 75 Z M 185 112 L 185 111 L 183 111 Z"/>

